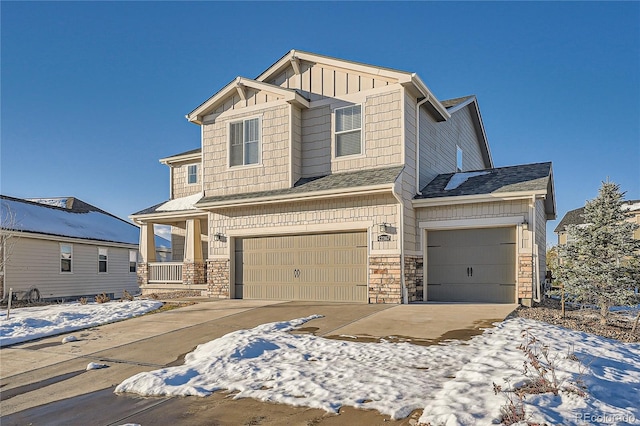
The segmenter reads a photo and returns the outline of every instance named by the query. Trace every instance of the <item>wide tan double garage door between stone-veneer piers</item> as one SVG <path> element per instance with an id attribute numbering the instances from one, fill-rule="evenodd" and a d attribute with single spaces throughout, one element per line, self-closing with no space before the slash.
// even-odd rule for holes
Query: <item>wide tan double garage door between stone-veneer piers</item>
<path id="1" fill-rule="evenodd" d="M 367 233 L 237 239 L 235 297 L 367 303 Z"/>

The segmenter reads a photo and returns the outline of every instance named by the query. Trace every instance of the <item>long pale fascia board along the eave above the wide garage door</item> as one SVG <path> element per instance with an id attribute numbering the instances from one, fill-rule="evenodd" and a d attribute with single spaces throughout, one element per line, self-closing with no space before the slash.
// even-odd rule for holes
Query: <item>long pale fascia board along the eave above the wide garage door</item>
<path id="1" fill-rule="evenodd" d="M 361 186 L 358 188 L 346 188 L 343 190 L 325 190 L 314 191 L 307 193 L 286 194 L 286 195 L 273 195 L 270 197 L 250 198 L 246 200 L 230 200 L 230 201 L 217 201 L 209 203 L 198 203 L 197 206 L 201 209 L 213 209 L 213 208 L 232 208 L 232 207 L 244 207 L 254 204 L 274 204 L 284 201 L 310 201 L 310 200 L 322 200 L 326 198 L 334 197 L 346 197 L 357 195 L 373 195 L 382 194 L 385 192 L 391 192 L 393 184 L 374 185 L 374 186 Z"/>

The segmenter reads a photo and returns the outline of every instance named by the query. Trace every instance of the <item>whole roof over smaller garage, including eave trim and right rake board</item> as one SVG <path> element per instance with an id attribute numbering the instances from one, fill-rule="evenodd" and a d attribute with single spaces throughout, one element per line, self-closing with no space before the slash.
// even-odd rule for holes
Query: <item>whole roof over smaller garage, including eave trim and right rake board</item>
<path id="1" fill-rule="evenodd" d="M 555 194 L 550 162 L 521 164 L 436 176 L 414 200 L 449 201 L 455 197 L 470 200 L 483 196 L 544 195 L 547 216 L 555 218 Z"/>

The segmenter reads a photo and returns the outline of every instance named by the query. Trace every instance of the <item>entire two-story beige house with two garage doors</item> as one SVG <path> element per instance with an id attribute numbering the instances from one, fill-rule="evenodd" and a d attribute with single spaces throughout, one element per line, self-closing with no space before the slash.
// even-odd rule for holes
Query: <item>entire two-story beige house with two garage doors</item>
<path id="1" fill-rule="evenodd" d="M 141 226 L 143 292 L 407 303 L 530 302 L 555 218 L 550 163 L 494 167 L 475 96 L 292 50 L 187 115 L 199 149 L 161 160 Z M 154 262 L 154 224 L 174 262 Z"/>

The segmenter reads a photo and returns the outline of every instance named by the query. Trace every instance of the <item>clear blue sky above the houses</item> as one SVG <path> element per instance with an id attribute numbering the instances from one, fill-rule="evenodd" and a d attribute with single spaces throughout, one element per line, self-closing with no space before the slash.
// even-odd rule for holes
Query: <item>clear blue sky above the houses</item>
<path id="1" fill-rule="evenodd" d="M 553 161 L 558 220 L 607 177 L 640 199 L 638 2 L 7 2 L 3 194 L 118 216 L 167 199 L 185 114 L 290 49 L 478 97 L 494 163 Z M 550 222 L 550 232 L 558 221 Z"/>

